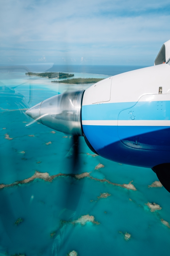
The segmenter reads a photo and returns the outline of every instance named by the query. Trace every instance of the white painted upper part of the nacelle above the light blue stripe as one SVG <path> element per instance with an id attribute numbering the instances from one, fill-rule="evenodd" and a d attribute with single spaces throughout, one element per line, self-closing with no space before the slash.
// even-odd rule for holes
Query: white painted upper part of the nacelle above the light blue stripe
<path id="1" fill-rule="evenodd" d="M 97 92 L 101 97 L 105 92 L 105 83 L 107 87 L 107 80 L 98 82 L 102 85 Z M 84 92 L 82 105 L 92 104 L 94 87 L 98 83 Z M 110 100 L 93 104 L 137 102 L 143 95 L 159 94 L 159 87 L 162 87 L 162 94 L 170 94 L 170 65 L 166 63 L 112 76 Z"/>

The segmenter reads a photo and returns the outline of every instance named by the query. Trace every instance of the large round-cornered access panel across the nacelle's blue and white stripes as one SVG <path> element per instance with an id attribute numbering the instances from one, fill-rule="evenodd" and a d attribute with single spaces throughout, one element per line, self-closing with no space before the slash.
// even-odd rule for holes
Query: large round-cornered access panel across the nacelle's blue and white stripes
<path id="1" fill-rule="evenodd" d="M 118 117 L 118 136 L 138 149 L 170 150 L 170 94 L 144 95 Z"/>

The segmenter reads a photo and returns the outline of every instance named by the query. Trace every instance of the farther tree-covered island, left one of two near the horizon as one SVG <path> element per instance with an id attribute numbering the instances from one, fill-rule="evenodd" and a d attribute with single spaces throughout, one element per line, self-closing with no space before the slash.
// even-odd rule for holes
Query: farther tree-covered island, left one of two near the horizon
<path id="1" fill-rule="evenodd" d="M 74 74 L 67 74 L 62 72 L 44 72 L 44 73 L 34 73 L 34 72 L 28 72 L 25 73 L 27 76 L 41 76 L 41 77 L 47 77 L 47 78 L 68 78 L 74 76 Z"/>

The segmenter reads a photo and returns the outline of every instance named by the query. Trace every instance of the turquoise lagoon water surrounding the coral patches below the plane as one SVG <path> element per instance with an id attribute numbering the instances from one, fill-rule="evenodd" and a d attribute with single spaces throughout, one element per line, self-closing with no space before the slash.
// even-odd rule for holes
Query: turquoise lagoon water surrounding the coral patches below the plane
<path id="1" fill-rule="evenodd" d="M 31 71 L 40 68 L 34 66 Z M 66 72 L 62 68 L 55 71 Z M 128 71 L 123 66 L 111 69 L 112 74 Z M 73 71 L 75 77 L 110 75 L 103 74 L 101 66 L 89 67 L 89 73 L 76 67 Z M 25 72 L 0 73 L 0 184 L 11 184 L 0 189 L 0 256 L 66 256 L 71 251 L 79 256 L 169 255 L 170 226 L 161 220 L 170 223 L 170 194 L 163 187 L 148 187 L 158 180 L 151 169 L 94 157 L 81 137 L 77 173 L 89 172 L 90 177 L 75 179 L 70 175 L 72 158 L 68 156 L 71 138 L 51 133 L 52 129 L 25 115 L 25 109 L 42 100 L 89 85 L 54 84 L 52 79 L 25 76 Z M 104 167 L 95 170 L 99 163 Z M 18 182 L 36 171 L 63 175 L 51 181 Z M 135 191 L 118 186 L 130 181 Z M 109 196 L 100 198 L 102 193 Z M 148 202 L 159 204 L 161 209 L 151 212 Z M 94 219 L 85 225 L 76 222 L 88 214 Z M 23 221 L 15 225 L 19 218 Z M 127 240 L 126 232 L 131 235 Z"/>

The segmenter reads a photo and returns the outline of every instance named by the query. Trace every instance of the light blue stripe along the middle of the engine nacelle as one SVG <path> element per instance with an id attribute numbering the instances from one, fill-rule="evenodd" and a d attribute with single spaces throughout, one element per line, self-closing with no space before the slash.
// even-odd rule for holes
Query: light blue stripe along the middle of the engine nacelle
<path id="1" fill-rule="evenodd" d="M 129 120 L 131 108 L 135 120 L 170 120 L 170 101 L 101 103 L 82 106 L 82 120 Z M 122 112 L 121 112 L 122 111 Z M 119 113 L 121 112 L 121 115 Z"/>

